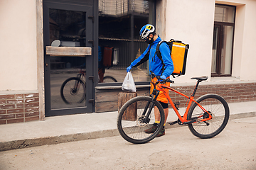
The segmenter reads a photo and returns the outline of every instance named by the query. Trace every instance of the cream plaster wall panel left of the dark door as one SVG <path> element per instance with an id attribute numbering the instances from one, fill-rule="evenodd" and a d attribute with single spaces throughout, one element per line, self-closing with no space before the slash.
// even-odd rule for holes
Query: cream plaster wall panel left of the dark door
<path id="1" fill-rule="evenodd" d="M 0 91 L 36 90 L 36 1 L 0 2 Z"/>

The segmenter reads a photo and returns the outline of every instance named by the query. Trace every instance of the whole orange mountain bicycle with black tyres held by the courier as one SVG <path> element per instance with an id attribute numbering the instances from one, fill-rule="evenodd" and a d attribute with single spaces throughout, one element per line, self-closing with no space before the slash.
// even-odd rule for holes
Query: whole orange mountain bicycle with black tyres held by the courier
<path id="1" fill-rule="evenodd" d="M 154 77 L 156 76 L 151 72 L 151 78 L 154 79 Z M 156 77 L 156 79 L 160 79 L 160 77 Z M 193 77 L 191 79 L 196 79 L 197 83 L 190 97 L 172 89 L 170 86 L 164 85 L 166 82 L 174 83 L 174 81 L 161 79 L 162 81 L 151 81 L 151 84 L 154 85 L 154 90 L 150 96 L 137 96 L 124 103 L 117 117 L 117 129 L 124 140 L 134 144 L 142 144 L 153 140 L 159 134 L 164 126 L 165 118 L 164 108 L 159 101 L 156 101 L 156 98 L 159 95 L 159 91 L 163 89 L 169 89 L 188 98 L 186 111 L 181 116 L 178 112 L 178 106 L 174 104 L 169 94 L 164 93 L 178 116 L 178 120 L 169 123 L 170 125 L 175 123 L 178 123 L 178 125 L 188 125 L 193 135 L 202 139 L 215 137 L 223 131 L 230 115 L 228 103 L 217 94 L 206 94 L 194 100 L 199 83 L 206 81 L 208 77 Z M 159 90 L 156 90 L 156 86 Z M 155 122 L 155 109 L 158 109 L 160 112 L 159 126 L 154 133 L 145 133 L 144 130 L 151 128 Z M 131 115 L 135 115 L 134 118 Z"/>

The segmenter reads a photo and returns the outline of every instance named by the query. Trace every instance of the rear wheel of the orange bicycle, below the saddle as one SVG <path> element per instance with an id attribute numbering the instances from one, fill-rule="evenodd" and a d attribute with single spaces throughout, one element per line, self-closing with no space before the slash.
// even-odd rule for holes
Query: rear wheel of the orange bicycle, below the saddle
<path id="1" fill-rule="evenodd" d="M 223 131 L 228 123 L 230 115 L 228 103 L 217 94 L 206 94 L 198 98 L 196 102 L 203 106 L 213 118 L 203 122 L 188 124 L 189 130 L 191 130 L 193 135 L 202 139 L 215 137 Z M 188 111 L 188 120 L 193 120 L 199 116 L 201 116 L 201 119 L 209 118 L 208 113 L 204 112 L 197 103 L 193 103 Z"/>

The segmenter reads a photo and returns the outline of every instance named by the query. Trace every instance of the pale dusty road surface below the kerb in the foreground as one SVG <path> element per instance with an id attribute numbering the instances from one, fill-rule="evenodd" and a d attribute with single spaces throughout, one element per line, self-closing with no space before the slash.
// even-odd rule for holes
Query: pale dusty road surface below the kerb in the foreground
<path id="1" fill-rule="evenodd" d="M 256 117 L 230 120 L 220 135 L 201 140 L 187 127 L 170 128 L 144 145 L 122 137 L 0 152 L 0 169 L 256 169 Z"/>

